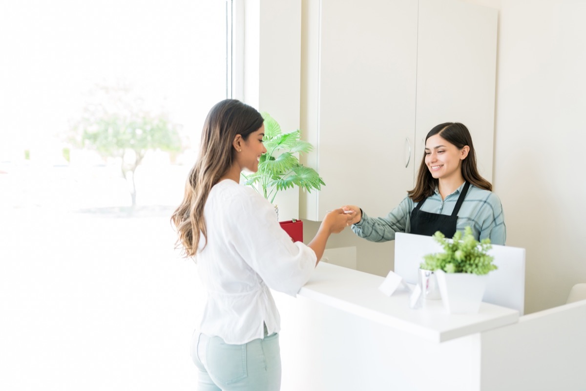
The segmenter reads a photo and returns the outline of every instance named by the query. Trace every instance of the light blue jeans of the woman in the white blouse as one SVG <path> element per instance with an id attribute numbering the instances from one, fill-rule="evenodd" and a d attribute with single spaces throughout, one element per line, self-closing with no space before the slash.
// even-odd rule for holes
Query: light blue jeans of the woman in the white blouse
<path id="1" fill-rule="evenodd" d="M 281 388 L 279 335 L 244 345 L 194 332 L 191 358 L 198 369 L 198 391 L 278 391 Z"/>

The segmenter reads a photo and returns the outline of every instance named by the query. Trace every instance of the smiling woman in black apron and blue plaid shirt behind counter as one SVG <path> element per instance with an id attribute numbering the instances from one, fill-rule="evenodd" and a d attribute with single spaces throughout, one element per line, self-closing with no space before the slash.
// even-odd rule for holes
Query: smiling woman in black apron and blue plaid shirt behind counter
<path id="1" fill-rule="evenodd" d="M 372 242 L 395 239 L 396 232 L 446 237 L 472 227 L 476 240 L 505 244 L 506 226 L 500 199 L 478 173 L 468 128 L 461 123 L 435 126 L 425 137 L 425 152 L 415 188 L 386 217 L 369 217 L 355 205 L 352 230 Z"/>

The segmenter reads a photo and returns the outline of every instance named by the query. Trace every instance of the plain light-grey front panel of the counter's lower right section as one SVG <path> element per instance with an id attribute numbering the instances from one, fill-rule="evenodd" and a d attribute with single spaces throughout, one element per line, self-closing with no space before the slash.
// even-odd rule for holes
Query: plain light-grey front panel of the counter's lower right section
<path id="1" fill-rule="evenodd" d="M 586 390 L 586 301 L 482 333 L 483 391 Z"/>

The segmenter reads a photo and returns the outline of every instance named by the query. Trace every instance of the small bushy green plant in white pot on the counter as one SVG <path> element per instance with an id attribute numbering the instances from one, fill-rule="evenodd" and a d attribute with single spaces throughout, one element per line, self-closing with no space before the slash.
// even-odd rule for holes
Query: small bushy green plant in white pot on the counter
<path id="1" fill-rule="evenodd" d="M 420 268 L 432 270 L 437 277 L 444 307 L 450 313 L 475 313 L 480 308 L 488 273 L 496 270 L 490 239 L 478 242 L 471 227 L 456 232 L 452 240 L 440 231 L 434 234 L 444 252 L 427 254 Z"/>

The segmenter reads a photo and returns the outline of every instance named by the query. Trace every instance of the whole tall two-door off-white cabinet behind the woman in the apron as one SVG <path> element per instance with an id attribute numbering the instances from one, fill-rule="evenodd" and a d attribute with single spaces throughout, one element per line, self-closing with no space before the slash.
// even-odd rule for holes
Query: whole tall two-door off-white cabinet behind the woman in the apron
<path id="1" fill-rule="evenodd" d="M 302 136 L 316 147 L 302 161 L 326 183 L 301 194 L 302 219 L 345 204 L 386 215 L 413 188 L 421 134 L 446 121 L 471 128 L 490 170 L 481 174 L 492 179 L 495 10 L 451 0 L 304 0 L 301 58 Z"/>

